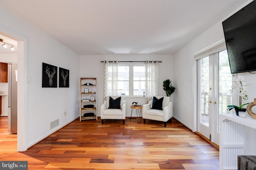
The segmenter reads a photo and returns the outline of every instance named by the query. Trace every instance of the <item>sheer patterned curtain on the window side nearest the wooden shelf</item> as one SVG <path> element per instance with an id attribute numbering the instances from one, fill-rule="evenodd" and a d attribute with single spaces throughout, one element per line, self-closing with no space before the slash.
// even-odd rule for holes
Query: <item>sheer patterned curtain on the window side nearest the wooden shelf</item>
<path id="1" fill-rule="evenodd" d="M 117 96 L 118 62 L 105 61 L 104 64 L 104 100 L 107 96 Z"/>

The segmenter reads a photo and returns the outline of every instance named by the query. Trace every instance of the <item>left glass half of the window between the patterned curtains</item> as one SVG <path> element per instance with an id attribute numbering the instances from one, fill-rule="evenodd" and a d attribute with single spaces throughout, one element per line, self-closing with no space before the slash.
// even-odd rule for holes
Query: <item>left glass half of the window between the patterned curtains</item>
<path id="1" fill-rule="evenodd" d="M 118 95 L 129 96 L 129 66 L 118 66 Z"/>

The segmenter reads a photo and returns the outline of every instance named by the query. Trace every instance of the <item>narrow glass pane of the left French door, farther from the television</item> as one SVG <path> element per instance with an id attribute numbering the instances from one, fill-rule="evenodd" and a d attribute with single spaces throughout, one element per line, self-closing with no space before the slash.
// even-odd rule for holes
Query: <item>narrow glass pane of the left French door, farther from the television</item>
<path id="1" fill-rule="evenodd" d="M 209 127 L 209 56 L 201 59 L 200 123 Z"/>

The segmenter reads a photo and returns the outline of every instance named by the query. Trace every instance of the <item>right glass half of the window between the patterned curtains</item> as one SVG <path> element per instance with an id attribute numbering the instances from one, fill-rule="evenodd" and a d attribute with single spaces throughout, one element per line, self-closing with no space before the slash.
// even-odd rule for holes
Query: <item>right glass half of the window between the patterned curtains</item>
<path id="1" fill-rule="evenodd" d="M 145 66 L 133 66 L 133 95 L 145 96 Z"/>

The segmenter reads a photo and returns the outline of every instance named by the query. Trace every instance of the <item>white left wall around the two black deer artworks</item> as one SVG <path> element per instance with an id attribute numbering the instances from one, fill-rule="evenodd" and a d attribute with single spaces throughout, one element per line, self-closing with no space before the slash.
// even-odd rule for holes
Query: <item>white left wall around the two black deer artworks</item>
<path id="1" fill-rule="evenodd" d="M 1 6 L 0 33 L 17 41 L 26 40 L 27 98 L 18 98 L 18 102 L 26 100 L 25 145 L 30 147 L 78 116 L 79 55 Z M 70 70 L 70 87 L 42 88 L 42 63 Z M 31 83 L 27 83 L 27 76 L 32 77 Z M 50 122 L 56 119 L 59 126 L 51 130 Z"/>

